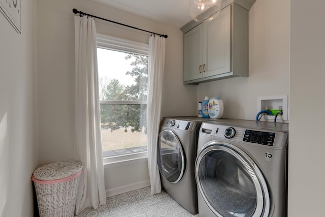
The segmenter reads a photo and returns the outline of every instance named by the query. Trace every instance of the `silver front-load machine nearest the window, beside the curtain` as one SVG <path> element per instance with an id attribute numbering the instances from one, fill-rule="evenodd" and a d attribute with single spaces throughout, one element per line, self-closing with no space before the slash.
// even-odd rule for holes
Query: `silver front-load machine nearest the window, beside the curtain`
<path id="1" fill-rule="evenodd" d="M 160 123 L 157 159 L 163 189 L 191 213 L 198 213 L 194 163 L 202 117 L 166 117 Z"/>

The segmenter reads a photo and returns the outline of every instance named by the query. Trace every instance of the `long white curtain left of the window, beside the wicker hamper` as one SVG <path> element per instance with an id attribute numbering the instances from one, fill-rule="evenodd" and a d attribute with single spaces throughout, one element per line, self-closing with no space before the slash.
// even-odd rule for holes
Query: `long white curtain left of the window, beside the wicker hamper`
<path id="1" fill-rule="evenodd" d="M 76 16 L 76 130 L 83 164 L 76 214 L 87 206 L 106 204 L 96 49 L 94 19 Z"/>

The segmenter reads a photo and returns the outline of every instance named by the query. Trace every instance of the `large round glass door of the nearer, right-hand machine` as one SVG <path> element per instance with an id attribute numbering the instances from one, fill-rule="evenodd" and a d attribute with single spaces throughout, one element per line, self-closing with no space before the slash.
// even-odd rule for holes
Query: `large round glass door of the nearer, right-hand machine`
<path id="1" fill-rule="evenodd" d="M 225 142 L 205 145 L 196 159 L 196 179 L 204 202 L 216 216 L 268 216 L 266 181 L 246 153 Z"/>

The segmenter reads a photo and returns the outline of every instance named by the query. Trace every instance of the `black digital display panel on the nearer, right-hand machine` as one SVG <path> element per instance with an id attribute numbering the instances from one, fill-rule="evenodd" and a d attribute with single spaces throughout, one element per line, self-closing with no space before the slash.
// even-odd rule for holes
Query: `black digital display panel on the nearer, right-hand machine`
<path id="1" fill-rule="evenodd" d="M 246 130 L 243 141 L 257 143 L 261 145 L 273 146 L 274 138 L 275 138 L 275 133 Z"/>

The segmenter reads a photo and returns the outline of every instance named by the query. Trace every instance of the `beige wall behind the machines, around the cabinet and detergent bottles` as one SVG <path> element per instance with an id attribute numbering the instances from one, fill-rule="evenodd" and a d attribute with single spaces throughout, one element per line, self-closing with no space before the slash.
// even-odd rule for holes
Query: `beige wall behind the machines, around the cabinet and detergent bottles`
<path id="1" fill-rule="evenodd" d="M 201 83 L 197 100 L 220 97 L 223 117 L 255 120 L 257 97 L 289 95 L 289 0 L 257 0 L 249 12 L 249 77 Z"/>

